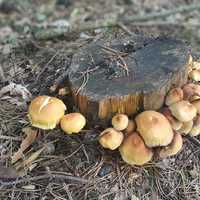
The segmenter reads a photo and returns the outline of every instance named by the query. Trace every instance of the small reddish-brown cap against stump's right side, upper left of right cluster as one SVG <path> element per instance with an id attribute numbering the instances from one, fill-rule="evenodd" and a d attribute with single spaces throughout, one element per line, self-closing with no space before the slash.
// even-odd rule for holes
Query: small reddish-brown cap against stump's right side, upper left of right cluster
<path id="1" fill-rule="evenodd" d="M 167 106 L 183 100 L 183 90 L 181 88 L 173 88 L 166 96 L 165 104 Z"/>

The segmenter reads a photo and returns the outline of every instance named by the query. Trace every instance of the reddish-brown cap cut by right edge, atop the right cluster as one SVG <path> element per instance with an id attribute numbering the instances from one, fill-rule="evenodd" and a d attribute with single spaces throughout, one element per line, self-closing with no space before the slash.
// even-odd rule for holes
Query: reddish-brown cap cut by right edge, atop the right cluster
<path id="1" fill-rule="evenodd" d="M 183 86 L 183 99 L 189 100 L 192 96 L 200 96 L 200 85 L 188 83 Z"/>

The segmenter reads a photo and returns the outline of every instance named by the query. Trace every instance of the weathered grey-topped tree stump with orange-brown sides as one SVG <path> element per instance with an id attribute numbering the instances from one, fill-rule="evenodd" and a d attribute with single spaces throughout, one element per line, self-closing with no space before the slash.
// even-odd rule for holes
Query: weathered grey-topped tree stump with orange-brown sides
<path id="1" fill-rule="evenodd" d="M 88 119 L 157 110 L 172 87 L 187 82 L 189 52 L 170 38 L 98 40 L 73 56 L 69 84 Z"/>

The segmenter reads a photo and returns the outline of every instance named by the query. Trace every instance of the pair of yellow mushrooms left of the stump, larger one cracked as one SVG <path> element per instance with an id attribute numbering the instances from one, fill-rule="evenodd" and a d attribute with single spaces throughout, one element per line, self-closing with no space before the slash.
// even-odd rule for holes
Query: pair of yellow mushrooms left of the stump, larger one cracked
<path id="1" fill-rule="evenodd" d="M 66 109 L 63 101 L 56 97 L 38 96 L 29 105 L 28 118 L 32 126 L 40 129 L 54 129 L 60 123 L 67 134 L 80 132 L 86 124 L 85 117 L 80 113 L 65 115 Z"/>

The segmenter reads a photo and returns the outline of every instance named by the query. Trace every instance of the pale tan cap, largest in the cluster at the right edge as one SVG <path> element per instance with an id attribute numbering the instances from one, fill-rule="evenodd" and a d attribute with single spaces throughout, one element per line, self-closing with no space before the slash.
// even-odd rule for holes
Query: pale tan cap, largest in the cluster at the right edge
<path id="1" fill-rule="evenodd" d="M 191 121 L 197 114 L 197 109 L 189 101 L 179 101 L 169 106 L 172 115 L 181 122 Z"/>

